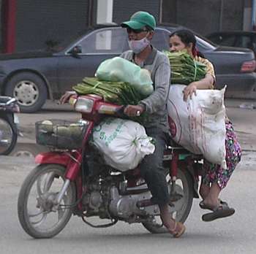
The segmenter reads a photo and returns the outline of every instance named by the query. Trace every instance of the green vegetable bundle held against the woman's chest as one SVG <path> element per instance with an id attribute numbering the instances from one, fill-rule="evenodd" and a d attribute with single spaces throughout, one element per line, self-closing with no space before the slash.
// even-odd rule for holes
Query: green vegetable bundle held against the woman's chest
<path id="1" fill-rule="evenodd" d="M 203 79 L 206 76 L 206 65 L 195 61 L 186 51 L 171 53 L 165 51 L 170 61 L 172 84 L 184 84 Z"/>

